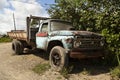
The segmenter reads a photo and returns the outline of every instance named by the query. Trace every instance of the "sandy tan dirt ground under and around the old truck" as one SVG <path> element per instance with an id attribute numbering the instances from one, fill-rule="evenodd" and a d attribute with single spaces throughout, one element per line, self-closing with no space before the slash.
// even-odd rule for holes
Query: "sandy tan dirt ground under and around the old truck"
<path id="1" fill-rule="evenodd" d="M 96 65 L 89 60 L 73 60 L 71 63 L 74 68 L 68 79 L 52 70 L 39 75 L 32 68 L 39 63 L 48 62 L 42 52 L 23 55 L 13 53 L 11 43 L 0 43 L 0 80 L 112 80 L 109 67 Z"/>

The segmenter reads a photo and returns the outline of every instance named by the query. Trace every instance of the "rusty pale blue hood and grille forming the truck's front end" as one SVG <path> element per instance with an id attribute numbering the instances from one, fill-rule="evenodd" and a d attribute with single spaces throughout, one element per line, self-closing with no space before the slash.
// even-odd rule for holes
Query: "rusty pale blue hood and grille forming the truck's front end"
<path id="1" fill-rule="evenodd" d="M 77 34 L 75 34 L 77 32 Z M 79 34 L 78 34 L 79 33 Z M 102 36 L 88 31 L 53 31 L 50 32 L 50 40 L 61 40 L 64 45 L 74 46 L 75 43 L 79 43 L 77 48 L 82 49 L 99 49 L 103 46 Z"/>

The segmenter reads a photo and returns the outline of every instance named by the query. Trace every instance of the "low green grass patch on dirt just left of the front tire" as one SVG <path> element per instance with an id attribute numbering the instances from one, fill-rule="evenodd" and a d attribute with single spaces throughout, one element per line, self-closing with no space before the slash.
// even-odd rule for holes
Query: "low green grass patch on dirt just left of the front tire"
<path id="1" fill-rule="evenodd" d="M 49 69 L 50 69 L 50 65 L 48 63 L 44 63 L 44 64 L 36 65 L 32 70 L 38 74 L 43 74 Z"/>

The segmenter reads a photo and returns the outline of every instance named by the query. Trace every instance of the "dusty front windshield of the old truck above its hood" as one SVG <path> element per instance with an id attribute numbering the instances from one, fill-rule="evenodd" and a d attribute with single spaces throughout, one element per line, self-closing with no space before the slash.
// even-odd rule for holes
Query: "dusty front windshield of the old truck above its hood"
<path id="1" fill-rule="evenodd" d="M 64 21 L 52 21 L 51 22 L 51 31 L 58 30 L 70 30 L 72 27 L 71 23 Z"/>

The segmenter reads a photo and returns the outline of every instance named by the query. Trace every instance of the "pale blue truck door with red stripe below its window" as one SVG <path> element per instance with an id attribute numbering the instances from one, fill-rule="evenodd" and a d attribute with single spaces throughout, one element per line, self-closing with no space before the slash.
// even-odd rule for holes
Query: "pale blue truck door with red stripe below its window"
<path id="1" fill-rule="evenodd" d="M 48 23 L 43 23 L 39 32 L 36 34 L 37 48 L 45 50 L 48 40 Z"/>

